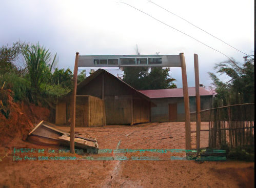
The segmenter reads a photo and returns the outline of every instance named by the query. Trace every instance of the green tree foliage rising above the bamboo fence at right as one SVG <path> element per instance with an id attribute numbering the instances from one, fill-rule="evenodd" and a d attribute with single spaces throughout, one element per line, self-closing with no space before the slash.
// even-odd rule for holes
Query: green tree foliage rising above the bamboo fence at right
<path id="1" fill-rule="evenodd" d="M 208 73 L 218 93 L 214 100 L 215 107 L 254 102 L 254 58 L 244 57 L 242 65 L 234 60 L 224 61 L 216 64 L 213 69 L 230 78 L 223 82 L 215 74 Z"/>

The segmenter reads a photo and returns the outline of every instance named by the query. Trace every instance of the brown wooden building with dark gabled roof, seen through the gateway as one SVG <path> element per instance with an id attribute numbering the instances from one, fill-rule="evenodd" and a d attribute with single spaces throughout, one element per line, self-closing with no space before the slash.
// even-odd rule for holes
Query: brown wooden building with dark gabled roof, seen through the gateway
<path id="1" fill-rule="evenodd" d="M 56 124 L 68 123 L 71 94 L 57 102 Z M 149 97 L 99 69 L 77 85 L 75 126 L 149 122 L 150 105 Z"/>

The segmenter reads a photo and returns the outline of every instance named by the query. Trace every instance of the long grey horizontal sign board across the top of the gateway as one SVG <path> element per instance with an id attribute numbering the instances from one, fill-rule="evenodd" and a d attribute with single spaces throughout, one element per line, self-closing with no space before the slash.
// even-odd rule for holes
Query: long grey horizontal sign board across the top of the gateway
<path id="1" fill-rule="evenodd" d="M 80 55 L 78 67 L 181 67 L 180 55 Z"/>

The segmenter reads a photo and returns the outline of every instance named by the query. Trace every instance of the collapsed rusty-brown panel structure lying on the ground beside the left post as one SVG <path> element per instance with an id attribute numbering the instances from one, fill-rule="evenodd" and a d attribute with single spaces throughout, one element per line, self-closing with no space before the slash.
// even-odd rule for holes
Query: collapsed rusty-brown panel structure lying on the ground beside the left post
<path id="1" fill-rule="evenodd" d="M 86 149 L 90 153 L 97 153 L 99 144 L 95 138 L 86 138 L 81 134 L 74 135 L 74 145 L 76 148 Z M 52 123 L 41 121 L 29 133 L 28 141 L 41 145 L 70 145 L 70 133 L 58 130 Z"/>

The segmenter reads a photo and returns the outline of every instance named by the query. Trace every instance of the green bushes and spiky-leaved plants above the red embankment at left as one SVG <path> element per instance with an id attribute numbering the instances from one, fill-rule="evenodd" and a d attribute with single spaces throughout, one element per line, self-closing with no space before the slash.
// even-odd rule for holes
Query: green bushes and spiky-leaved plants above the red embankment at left
<path id="1" fill-rule="evenodd" d="M 26 61 L 24 70 L 19 70 L 14 62 L 19 55 Z M 73 89 L 73 73 L 70 69 L 55 69 L 52 67 L 56 54 L 51 61 L 51 53 L 44 46 L 25 45 L 19 41 L 13 47 L 0 48 L 0 86 L 10 89 L 14 101 L 30 101 L 36 104 L 52 105 L 56 98 Z M 22 74 L 21 74 L 22 73 Z M 86 78 L 85 70 L 77 76 L 77 82 Z"/>

